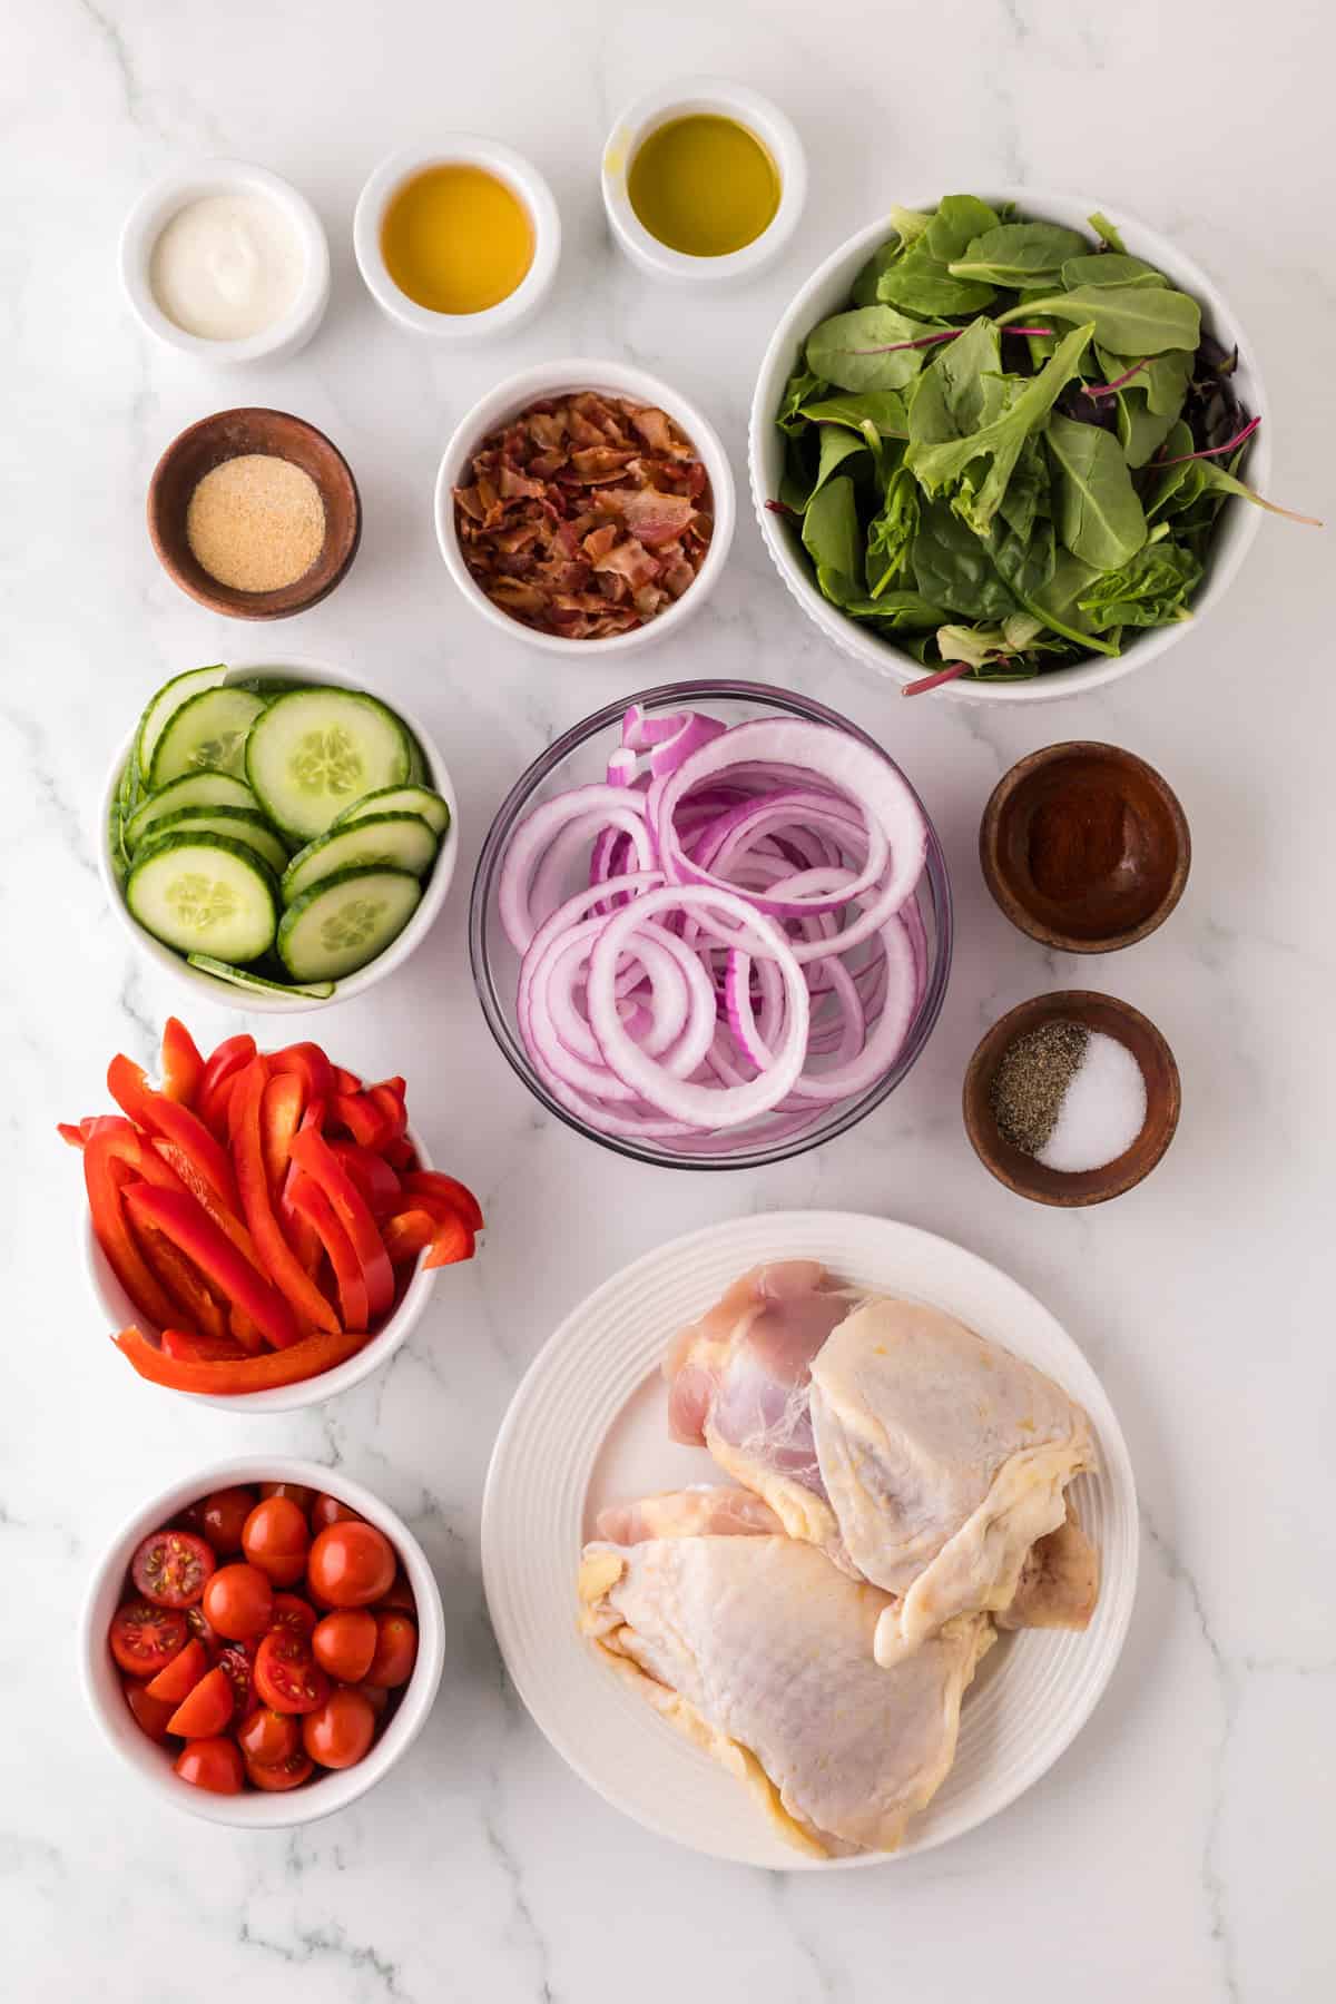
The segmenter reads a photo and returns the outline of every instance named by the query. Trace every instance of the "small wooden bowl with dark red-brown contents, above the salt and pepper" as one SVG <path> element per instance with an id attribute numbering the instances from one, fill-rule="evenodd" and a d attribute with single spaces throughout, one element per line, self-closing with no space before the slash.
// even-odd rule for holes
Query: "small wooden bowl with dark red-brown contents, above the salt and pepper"
<path id="1" fill-rule="evenodd" d="M 1064 812 L 1068 868 L 1038 862 Z M 1162 926 L 1192 864 L 1188 820 L 1154 766 L 1118 745 L 1046 745 L 997 782 L 979 866 L 1020 932 L 1068 954 L 1112 954 Z"/>

